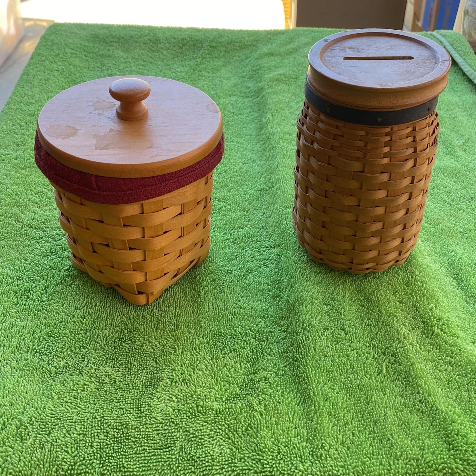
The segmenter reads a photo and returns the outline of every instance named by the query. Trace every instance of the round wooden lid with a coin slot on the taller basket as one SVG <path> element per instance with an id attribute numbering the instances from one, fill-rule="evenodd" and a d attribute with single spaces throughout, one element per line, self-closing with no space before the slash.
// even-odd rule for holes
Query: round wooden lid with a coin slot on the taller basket
<path id="1" fill-rule="evenodd" d="M 423 104 L 445 89 L 451 58 L 432 40 L 400 30 L 343 31 L 309 51 L 307 79 L 323 98 L 357 109 Z"/>

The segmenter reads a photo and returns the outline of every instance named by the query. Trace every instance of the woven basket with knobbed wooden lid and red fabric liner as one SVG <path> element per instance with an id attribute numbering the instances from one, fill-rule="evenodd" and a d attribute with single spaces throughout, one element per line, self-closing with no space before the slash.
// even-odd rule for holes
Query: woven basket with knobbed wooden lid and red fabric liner
<path id="1" fill-rule="evenodd" d="M 133 304 L 154 301 L 208 254 L 223 150 L 217 105 L 178 81 L 102 78 L 51 99 L 35 159 L 73 264 Z"/>

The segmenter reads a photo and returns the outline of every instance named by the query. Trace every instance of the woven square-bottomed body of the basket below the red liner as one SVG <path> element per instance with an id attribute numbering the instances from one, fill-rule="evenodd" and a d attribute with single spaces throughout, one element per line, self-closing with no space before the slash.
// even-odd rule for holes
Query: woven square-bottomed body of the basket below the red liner
<path id="1" fill-rule="evenodd" d="M 149 304 L 210 248 L 213 172 L 142 202 L 106 205 L 55 188 L 71 260 L 133 304 Z"/>

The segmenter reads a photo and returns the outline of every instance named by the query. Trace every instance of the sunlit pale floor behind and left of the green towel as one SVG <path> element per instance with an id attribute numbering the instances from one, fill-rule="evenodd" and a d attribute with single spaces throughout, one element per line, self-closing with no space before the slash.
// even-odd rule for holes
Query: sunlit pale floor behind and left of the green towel
<path id="1" fill-rule="evenodd" d="M 284 28 L 281 0 L 134 0 L 134 9 L 117 8 L 117 3 L 101 0 L 82 0 L 80 8 L 77 5 L 64 0 L 22 1 L 23 38 L 0 66 L 0 110 L 41 35 L 55 21 L 246 30 Z"/>

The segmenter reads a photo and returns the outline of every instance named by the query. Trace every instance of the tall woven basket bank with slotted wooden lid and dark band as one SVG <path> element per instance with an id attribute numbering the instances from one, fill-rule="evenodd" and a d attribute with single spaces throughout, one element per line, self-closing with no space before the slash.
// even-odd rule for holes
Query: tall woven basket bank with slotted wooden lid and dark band
<path id="1" fill-rule="evenodd" d="M 293 224 L 314 260 L 352 273 L 403 263 L 417 243 L 449 54 L 398 30 L 352 30 L 309 52 L 297 119 Z"/>

